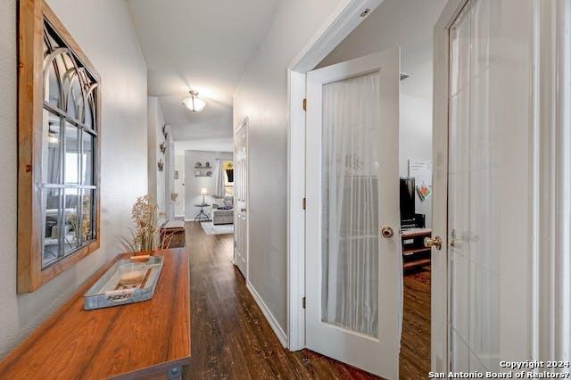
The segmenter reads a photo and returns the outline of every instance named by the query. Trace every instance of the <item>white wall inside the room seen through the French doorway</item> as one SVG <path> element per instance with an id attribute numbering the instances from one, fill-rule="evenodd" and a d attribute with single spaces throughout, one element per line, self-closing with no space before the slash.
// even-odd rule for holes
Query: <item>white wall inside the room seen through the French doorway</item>
<path id="1" fill-rule="evenodd" d="M 447 0 L 385 0 L 346 37 L 319 67 L 401 47 L 399 168 L 408 175 L 410 158 L 432 158 L 433 29 Z M 418 213 L 432 219 L 432 198 L 416 199 Z"/>

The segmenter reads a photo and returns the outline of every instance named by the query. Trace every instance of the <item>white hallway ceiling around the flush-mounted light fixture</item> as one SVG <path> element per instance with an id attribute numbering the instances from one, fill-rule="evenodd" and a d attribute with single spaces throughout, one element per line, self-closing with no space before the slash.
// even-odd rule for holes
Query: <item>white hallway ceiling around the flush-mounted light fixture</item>
<path id="1" fill-rule="evenodd" d="M 159 96 L 175 140 L 232 135 L 232 97 L 276 5 L 277 0 L 128 0 L 149 95 Z M 191 88 L 207 102 L 201 113 L 182 105 Z"/>

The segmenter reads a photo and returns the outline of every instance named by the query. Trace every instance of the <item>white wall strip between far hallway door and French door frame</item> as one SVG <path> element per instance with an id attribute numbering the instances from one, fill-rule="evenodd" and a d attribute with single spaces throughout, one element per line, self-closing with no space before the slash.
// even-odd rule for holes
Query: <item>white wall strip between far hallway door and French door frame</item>
<path id="1" fill-rule="evenodd" d="M 234 97 L 249 117 L 249 277 L 279 326 L 287 322 L 287 68 L 341 0 L 280 2 Z"/>

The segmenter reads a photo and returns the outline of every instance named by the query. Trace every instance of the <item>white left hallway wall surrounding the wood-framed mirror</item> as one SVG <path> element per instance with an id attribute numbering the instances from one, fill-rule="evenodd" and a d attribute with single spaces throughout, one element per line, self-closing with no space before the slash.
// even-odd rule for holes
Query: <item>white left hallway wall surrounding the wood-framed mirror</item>
<path id="1" fill-rule="evenodd" d="M 0 357 L 117 254 L 147 187 L 146 68 L 125 2 L 48 0 L 102 77 L 101 248 L 34 293 L 16 293 L 17 5 L 0 2 Z"/>

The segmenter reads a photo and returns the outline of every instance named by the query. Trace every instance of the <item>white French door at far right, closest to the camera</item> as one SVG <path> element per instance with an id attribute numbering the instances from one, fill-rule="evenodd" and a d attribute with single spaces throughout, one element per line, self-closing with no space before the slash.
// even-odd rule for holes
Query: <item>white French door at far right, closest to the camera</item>
<path id="1" fill-rule="evenodd" d="M 436 44 L 435 70 L 449 62 L 434 123 L 433 235 L 443 248 L 433 253 L 448 268 L 448 320 L 438 312 L 435 321 L 447 326 L 443 371 L 504 371 L 501 360 L 529 359 L 533 344 L 532 9 L 470 0 L 443 20 L 451 26 Z"/>

